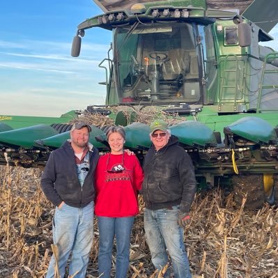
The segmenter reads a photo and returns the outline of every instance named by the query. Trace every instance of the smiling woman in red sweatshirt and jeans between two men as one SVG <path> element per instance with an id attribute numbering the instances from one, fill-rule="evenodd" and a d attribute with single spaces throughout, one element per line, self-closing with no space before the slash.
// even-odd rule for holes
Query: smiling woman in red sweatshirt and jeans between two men
<path id="1" fill-rule="evenodd" d="M 137 157 L 123 151 L 125 130 L 112 126 L 106 136 L 111 153 L 100 157 L 95 171 L 95 215 L 100 233 L 98 272 L 102 278 L 110 278 L 116 237 L 116 278 L 125 278 L 130 263 L 130 233 L 134 216 L 139 213 L 137 192 L 144 174 Z"/>

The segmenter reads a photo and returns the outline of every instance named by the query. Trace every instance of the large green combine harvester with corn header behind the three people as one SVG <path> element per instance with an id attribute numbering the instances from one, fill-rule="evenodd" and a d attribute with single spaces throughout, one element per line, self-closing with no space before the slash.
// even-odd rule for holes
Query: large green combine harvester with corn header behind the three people
<path id="1" fill-rule="evenodd" d="M 157 107 L 181 118 L 171 132 L 191 155 L 200 187 L 233 185 L 235 201 L 247 194 L 249 208 L 278 203 L 278 53 L 258 44 L 273 39 L 278 1 L 95 3 L 103 14 L 79 24 L 72 56 L 79 56 L 86 29 L 111 30 L 113 43 L 100 63 L 106 105 L 86 111 L 114 116 L 125 126 L 125 146 L 140 159 L 149 128 L 132 122 L 134 111 Z M 115 106 L 125 113 L 112 113 Z M 0 163 L 45 165 L 77 116 L 0 116 Z M 92 128 L 91 142 L 107 150 L 105 128 Z"/>

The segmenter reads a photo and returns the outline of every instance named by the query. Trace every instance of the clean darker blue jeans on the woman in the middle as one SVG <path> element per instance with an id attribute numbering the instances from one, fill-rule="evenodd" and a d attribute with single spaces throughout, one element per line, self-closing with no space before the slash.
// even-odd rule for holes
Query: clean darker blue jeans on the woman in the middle
<path id="1" fill-rule="evenodd" d="M 98 253 L 98 273 L 102 278 L 110 278 L 112 247 L 116 236 L 116 278 L 125 278 L 130 265 L 130 233 L 134 217 L 98 217 L 100 250 Z"/>

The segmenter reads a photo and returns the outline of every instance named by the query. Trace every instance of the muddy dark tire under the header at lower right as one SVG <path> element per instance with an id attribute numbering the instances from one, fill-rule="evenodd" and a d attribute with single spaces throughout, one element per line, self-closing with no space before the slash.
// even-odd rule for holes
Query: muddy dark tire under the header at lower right
<path id="1" fill-rule="evenodd" d="M 242 199 L 247 196 L 245 208 L 256 210 L 263 206 L 265 192 L 263 190 L 263 175 L 246 174 L 233 176 L 233 192 L 236 206 L 240 207 Z"/>

